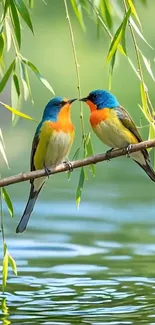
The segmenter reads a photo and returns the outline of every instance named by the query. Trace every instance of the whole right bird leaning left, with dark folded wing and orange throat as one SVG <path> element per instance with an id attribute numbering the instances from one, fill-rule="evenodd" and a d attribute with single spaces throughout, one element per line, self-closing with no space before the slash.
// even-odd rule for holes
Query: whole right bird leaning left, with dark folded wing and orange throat
<path id="1" fill-rule="evenodd" d="M 143 141 L 129 113 L 110 92 L 94 90 L 80 100 L 90 107 L 90 124 L 98 138 L 107 146 L 112 149 L 123 148 Z M 150 165 L 147 150 L 131 153 L 130 156 L 155 182 L 155 172 Z"/>

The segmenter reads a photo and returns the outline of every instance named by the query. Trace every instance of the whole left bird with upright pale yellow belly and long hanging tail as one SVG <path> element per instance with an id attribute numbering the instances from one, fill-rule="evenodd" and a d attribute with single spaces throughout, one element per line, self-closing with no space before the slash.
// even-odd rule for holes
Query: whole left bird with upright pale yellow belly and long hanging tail
<path id="1" fill-rule="evenodd" d="M 70 118 L 70 107 L 76 99 L 55 97 L 46 105 L 32 143 L 31 171 L 48 169 L 62 163 L 68 156 L 73 140 L 74 125 Z M 16 232 L 26 229 L 38 194 L 47 177 L 31 180 L 29 199 Z"/>

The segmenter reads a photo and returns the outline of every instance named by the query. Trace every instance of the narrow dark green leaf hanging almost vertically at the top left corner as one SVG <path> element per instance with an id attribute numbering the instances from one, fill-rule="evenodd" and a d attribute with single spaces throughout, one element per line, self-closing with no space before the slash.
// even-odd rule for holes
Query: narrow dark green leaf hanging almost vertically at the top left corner
<path id="1" fill-rule="evenodd" d="M 10 2 L 10 11 L 11 11 L 10 13 L 11 13 L 12 25 L 13 25 L 14 32 L 15 32 L 15 35 L 16 35 L 18 46 L 20 48 L 20 46 L 21 46 L 20 21 L 19 21 L 17 9 L 16 9 L 13 1 Z"/>

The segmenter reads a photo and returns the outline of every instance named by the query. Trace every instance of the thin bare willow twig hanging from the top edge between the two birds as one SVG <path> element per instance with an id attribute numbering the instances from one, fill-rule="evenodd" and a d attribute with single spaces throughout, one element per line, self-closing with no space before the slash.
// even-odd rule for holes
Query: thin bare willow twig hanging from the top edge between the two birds
<path id="1" fill-rule="evenodd" d="M 78 89 L 78 96 L 81 98 L 81 82 L 80 82 L 80 71 L 79 71 L 79 63 L 77 59 L 76 54 L 76 47 L 75 47 L 75 40 L 74 40 L 74 33 L 72 29 L 72 24 L 69 16 L 67 1 L 64 0 L 65 10 L 66 10 L 66 19 L 68 21 L 69 31 L 70 31 L 70 37 L 71 37 L 71 43 L 72 43 L 72 49 L 73 49 L 73 56 L 74 56 L 74 62 L 75 62 L 75 69 L 76 69 L 76 77 L 77 77 L 77 89 Z M 83 120 L 83 109 L 82 109 L 82 102 L 80 102 L 80 120 L 81 120 L 81 130 L 82 130 L 82 137 L 85 137 L 85 129 L 84 129 L 84 120 Z"/>

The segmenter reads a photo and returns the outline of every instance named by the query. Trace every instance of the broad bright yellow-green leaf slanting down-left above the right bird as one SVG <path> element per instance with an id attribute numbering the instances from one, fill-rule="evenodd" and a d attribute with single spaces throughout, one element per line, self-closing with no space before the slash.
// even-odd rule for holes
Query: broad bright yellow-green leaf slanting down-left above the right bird
<path id="1" fill-rule="evenodd" d="M 117 48 L 118 48 L 118 45 L 120 44 L 121 42 L 121 39 L 122 37 L 124 37 L 124 34 L 125 34 L 125 30 L 126 30 L 126 25 L 127 25 L 127 22 L 128 22 L 128 19 L 130 17 L 130 13 L 131 13 L 131 9 L 129 8 L 129 10 L 127 11 L 124 19 L 123 19 L 123 22 L 121 23 L 121 25 L 119 26 L 119 28 L 117 29 L 113 39 L 112 39 L 112 42 L 111 42 L 111 45 L 110 45 L 110 48 L 109 48 L 109 52 L 108 52 L 108 55 L 107 55 L 107 59 L 106 59 L 106 63 L 108 63 L 111 58 L 113 57 L 113 55 L 115 54 Z M 124 48 L 123 48 L 124 50 Z M 126 51 L 124 50 L 124 52 L 126 53 Z"/>

